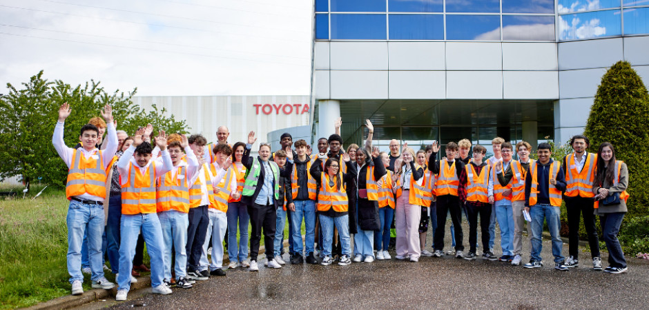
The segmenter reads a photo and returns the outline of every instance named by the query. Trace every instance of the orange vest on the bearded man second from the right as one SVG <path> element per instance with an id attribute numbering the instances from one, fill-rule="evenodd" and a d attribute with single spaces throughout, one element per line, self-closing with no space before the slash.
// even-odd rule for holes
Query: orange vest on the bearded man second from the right
<path id="1" fill-rule="evenodd" d="M 595 168 L 597 167 L 597 154 L 586 153 L 585 163 L 581 172 L 577 171 L 574 164 L 574 153 L 565 156 L 565 196 L 592 198 L 592 183 L 595 180 Z"/>

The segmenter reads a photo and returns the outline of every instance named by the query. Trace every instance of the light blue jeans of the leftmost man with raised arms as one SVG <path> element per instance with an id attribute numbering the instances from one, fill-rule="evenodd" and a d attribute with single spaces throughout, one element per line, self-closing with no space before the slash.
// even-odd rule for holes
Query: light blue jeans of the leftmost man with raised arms
<path id="1" fill-rule="evenodd" d="M 84 234 L 88 236 L 88 258 L 93 271 L 92 280 L 104 278 L 104 266 L 101 263 L 101 235 L 104 234 L 104 206 L 80 203 L 70 200 L 68 207 L 68 273 L 70 283 L 79 280 L 84 282 L 81 273 L 81 243 Z M 130 274 L 130 273 L 129 273 Z"/>

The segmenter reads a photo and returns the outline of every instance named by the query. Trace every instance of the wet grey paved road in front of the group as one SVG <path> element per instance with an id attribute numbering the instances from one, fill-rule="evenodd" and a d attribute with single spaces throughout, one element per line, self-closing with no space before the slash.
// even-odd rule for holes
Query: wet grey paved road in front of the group
<path id="1" fill-rule="evenodd" d="M 524 260 L 529 260 L 528 239 L 523 251 Z M 568 245 L 564 245 L 563 253 L 567 252 Z M 587 262 L 590 254 L 581 254 L 581 258 Z M 543 259 L 546 265 L 542 269 L 452 256 L 422 258 L 420 262 L 393 258 L 349 266 L 289 263 L 282 269 L 261 267 L 258 273 L 230 270 L 226 277 L 212 277 L 192 289 L 173 289 L 169 296 L 153 295 L 151 289 L 144 289 L 130 294 L 121 304 L 108 300 L 86 309 L 649 308 L 649 261 L 630 258 L 630 272 L 619 275 L 592 271 L 590 264 L 555 271 L 548 240 L 543 241 Z M 605 256 L 604 267 L 607 265 Z"/>

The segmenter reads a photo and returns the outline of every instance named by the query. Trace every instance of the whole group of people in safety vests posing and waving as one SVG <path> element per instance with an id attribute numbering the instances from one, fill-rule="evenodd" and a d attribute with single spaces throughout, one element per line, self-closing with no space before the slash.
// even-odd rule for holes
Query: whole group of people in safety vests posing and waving
<path id="1" fill-rule="evenodd" d="M 602 270 L 595 228 L 599 215 L 609 252 L 605 271 L 627 270 L 617 232 L 626 213 L 628 170 L 616 160 L 610 143 L 592 154 L 585 152 L 588 138 L 574 136 L 574 152 L 563 158 L 562 165 L 552 160 L 548 143 L 539 144 L 539 159 L 534 161 L 530 143 L 521 141 L 514 147 L 497 137 L 492 141 L 493 156 L 485 159 L 484 146 L 472 147 L 463 139 L 447 143 L 446 156 L 438 160 L 436 142 L 416 151 L 393 140 L 389 152 L 380 152 L 372 146 L 374 127 L 369 120 L 365 144 L 351 144 L 345 151 L 338 118 L 336 133 L 320 138 L 317 152 L 311 152 L 306 141 L 293 143 L 290 134 L 283 134 L 278 151 L 260 143 L 258 156 L 251 156 L 257 141 L 254 132 L 246 143 L 234 145 L 228 143 L 229 132 L 223 126 L 217 143 L 211 144 L 200 134 L 167 135 L 161 130 L 153 136 L 151 125 L 128 136 L 116 130 L 106 105 L 101 111 L 105 122 L 93 118 L 81 127 L 79 145 L 71 148 L 63 137 L 70 112 L 67 103 L 61 105 L 52 143 L 69 169 L 68 273 L 73 295 L 83 293 L 84 256 L 92 287 L 115 287 L 104 277 L 103 258 L 108 256 L 110 269 L 117 274 L 116 299 L 126 300 L 130 284 L 137 281 L 133 259 L 142 251 L 139 238 L 151 258 L 153 293 L 169 294 L 173 285 L 191 288 L 196 280 L 225 276 L 224 241 L 228 268 L 258 271 L 262 231 L 264 264 L 269 268 L 286 264 L 284 238 L 294 265 L 391 260 L 393 225 L 397 260 L 418 262 L 421 256 L 445 254 L 475 260 L 478 220 L 482 258 L 512 265 L 521 264 L 523 226 L 529 223 L 532 250 L 525 268 L 543 266 L 541 232 L 547 221 L 554 268 L 563 271 L 579 265 L 583 218 L 593 269 Z M 514 152 L 518 160 L 512 158 Z M 570 228 L 567 259 L 559 237 L 562 200 Z M 445 252 L 449 214 L 453 249 Z M 469 222 L 468 251 L 463 246 L 462 214 Z M 289 234 L 284 236 L 287 222 Z M 500 257 L 493 250 L 496 223 Z M 432 251 L 426 249 L 429 226 Z"/>

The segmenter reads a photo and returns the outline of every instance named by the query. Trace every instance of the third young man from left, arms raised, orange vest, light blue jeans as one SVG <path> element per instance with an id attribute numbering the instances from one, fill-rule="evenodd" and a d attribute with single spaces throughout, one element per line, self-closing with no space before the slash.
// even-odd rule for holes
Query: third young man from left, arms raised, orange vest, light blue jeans
<path id="1" fill-rule="evenodd" d="M 164 280 L 171 283 L 171 269 L 175 270 L 176 287 L 192 287 L 187 267 L 187 228 L 189 226 L 189 187 L 200 172 L 200 165 L 188 139 L 171 140 L 167 145 L 173 169 L 157 179 L 156 207 L 164 240 Z M 186 161 L 183 161 L 183 158 Z M 175 249 L 172 254 L 171 250 Z M 175 267 L 171 266 L 172 257 Z M 171 285 L 170 285 L 171 286 Z"/>

